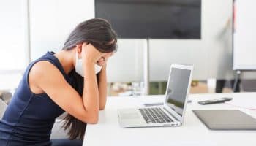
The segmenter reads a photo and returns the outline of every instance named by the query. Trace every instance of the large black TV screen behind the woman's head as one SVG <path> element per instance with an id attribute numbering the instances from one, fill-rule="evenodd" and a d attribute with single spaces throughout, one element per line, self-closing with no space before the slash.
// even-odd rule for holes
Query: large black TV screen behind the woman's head
<path id="1" fill-rule="evenodd" d="M 95 17 L 120 38 L 201 38 L 201 0 L 95 0 Z"/>

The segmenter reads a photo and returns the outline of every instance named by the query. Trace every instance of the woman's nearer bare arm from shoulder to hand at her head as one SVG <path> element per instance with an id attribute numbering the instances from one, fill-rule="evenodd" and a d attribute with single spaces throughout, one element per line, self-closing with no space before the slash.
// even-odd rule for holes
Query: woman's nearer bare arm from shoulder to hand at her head
<path id="1" fill-rule="evenodd" d="M 29 73 L 29 86 L 42 89 L 59 107 L 84 123 L 97 123 L 99 91 L 94 64 L 101 54 L 91 45 L 84 48 L 82 53 L 85 74 L 82 97 L 64 79 L 59 69 L 48 61 L 39 61 L 34 64 Z"/>

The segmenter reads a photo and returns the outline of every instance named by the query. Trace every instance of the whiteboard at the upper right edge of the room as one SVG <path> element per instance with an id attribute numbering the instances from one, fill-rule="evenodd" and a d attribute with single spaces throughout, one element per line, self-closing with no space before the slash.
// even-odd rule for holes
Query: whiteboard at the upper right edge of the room
<path id="1" fill-rule="evenodd" d="M 233 68 L 237 70 L 256 70 L 255 4 L 255 0 L 236 1 Z"/>

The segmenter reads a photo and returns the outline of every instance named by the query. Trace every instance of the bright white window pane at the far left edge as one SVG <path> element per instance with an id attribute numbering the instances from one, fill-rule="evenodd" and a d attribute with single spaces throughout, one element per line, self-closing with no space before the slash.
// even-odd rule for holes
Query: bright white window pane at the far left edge
<path id="1" fill-rule="evenodd" d="M 0 90 L 17 87 L 26 66 L 23 1 L 0 1 Z"/>

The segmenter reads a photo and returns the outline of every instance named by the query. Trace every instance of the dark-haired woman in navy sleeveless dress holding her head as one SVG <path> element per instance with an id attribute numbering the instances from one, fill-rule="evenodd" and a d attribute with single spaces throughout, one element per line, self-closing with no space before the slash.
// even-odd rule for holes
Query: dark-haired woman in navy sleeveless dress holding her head
<path id="1" fill-rule="evenodd" d="M 58 53 L 31 62 L 0 120 L 0 145 L 82 145 L 86 123 L 106 104 L 108 58 L 116 33 L 106 20 L 80 23 Z M 50 139 L 55 119 L 69 115 L 69 139 Z"/>

